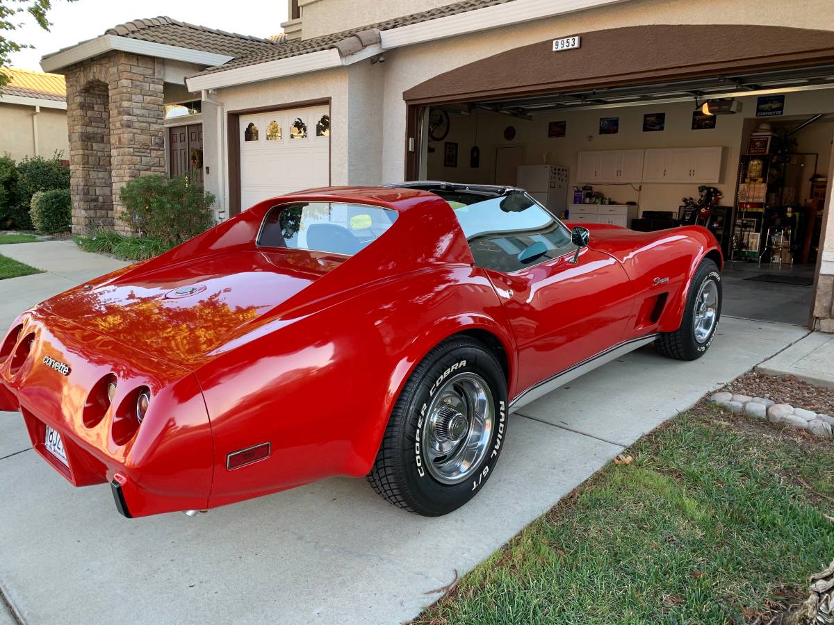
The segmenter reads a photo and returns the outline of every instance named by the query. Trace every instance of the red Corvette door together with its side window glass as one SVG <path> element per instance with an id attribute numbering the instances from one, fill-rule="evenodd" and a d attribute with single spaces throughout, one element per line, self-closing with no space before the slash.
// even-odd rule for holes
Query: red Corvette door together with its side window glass
<path id="1" fill-rule="evenodd" d="M 635 293 L 620 263 L 595 250 L 593 239 L 577 256 L 570 231 L 524 192 L 459 193 L 453 209 L 515 334 L 519 392 L 623 340 Z"/>

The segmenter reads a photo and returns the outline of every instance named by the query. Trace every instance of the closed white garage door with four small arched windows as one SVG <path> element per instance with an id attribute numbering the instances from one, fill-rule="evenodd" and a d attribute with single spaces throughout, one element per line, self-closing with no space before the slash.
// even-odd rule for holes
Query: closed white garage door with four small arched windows
<path id="1" fill-rule="evenodd" d="M 326 105 L 241 115 L 240 208 L 284 193 L 326 187 L 329 143 Z"/>

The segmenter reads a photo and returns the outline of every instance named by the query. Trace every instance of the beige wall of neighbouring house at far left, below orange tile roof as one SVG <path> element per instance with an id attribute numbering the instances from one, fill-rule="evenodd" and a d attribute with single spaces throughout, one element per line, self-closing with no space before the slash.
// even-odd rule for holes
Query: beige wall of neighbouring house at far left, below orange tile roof
<path id="1" fill-rule="evenodd" d="M 20 161 L 36 155 L 50 158 L 58 151 L 69 158 L 67 112 L 61 109 L 41 108 L 38 112 L 38 142 L 35 143 L 33 116 L 35 107 L 19 104 L 0 104 L 0 154 L 8 153 Z"/>

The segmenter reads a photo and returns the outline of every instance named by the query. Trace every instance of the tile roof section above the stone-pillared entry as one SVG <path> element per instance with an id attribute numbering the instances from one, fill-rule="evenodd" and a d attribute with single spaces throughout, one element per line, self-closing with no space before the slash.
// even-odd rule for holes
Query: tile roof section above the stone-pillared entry
<path id="1" fill-rule="evenodd" d="M 188 47 L 203 52 L 227 54 L 230 57 L 269 50 L 280 45 L 269 39 L 196 26 L 164 16 L 136 19 L 133 22 L 119 24 L 108 28 L 104 34 L 164 43 L 168 46 Z"/>

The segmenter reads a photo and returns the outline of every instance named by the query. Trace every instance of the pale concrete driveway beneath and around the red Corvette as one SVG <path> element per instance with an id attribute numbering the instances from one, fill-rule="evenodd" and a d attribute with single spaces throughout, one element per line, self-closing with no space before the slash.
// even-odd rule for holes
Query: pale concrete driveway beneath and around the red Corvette
<path id="1" fill-rule="evenodd" d="M 56 277 L 106 269 L 71 243 L 28 245 L 72 257 L 78 273 L 0 283 L 4 324 L 69 286 Z M 19 414 L 0 413 L 0 590 L 28 623 L 403 622 L 625 446 L 806 333 L 724 318 L 695 363 L 644 348 L 579 378 L 510 418 L 488 487 L 433 519 L 334 478 L 195 518 L 128 520 L 108 486 L 71 488 L 31 450 Z"/>

